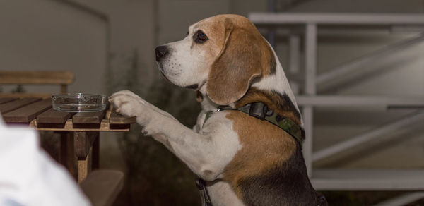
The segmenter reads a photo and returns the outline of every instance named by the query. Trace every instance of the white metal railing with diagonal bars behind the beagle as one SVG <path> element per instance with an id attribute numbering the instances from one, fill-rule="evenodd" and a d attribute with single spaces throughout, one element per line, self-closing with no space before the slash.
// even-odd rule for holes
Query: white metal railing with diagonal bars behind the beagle
<path id="1" fill-rule="evenodd" d="M 414 97 L 386 97 L 386 96 L 341 96 L 319 95 L 322 89 L 334 87 L 338 83 L 348 80 L 346 76 L 353 73 L 360 66 L 382 59 L 387 54 L 392 54 L 401 49 L 406 49 L 424 40 L 424 15 L 422 14 L 358 14 L 358 13 L 250 13 L 249 19 L 258 26 L 261 32 L 273 32 L 275 37 L 279 34 L 288 35 L 288 74 L 300 75 L 301 40 L 304 44 L 305 73 L 304 82 L 290 79 L 293 92 L 297 94 L 297 102 L 302 107 L 302 116 L 305 123 L 306 140 L 303 153 L 307 164 L 308 174 L 312 184 L 317 190 L 424 190 L 424 170 L 313 170 L 312 163 L 338 152 L 351 149 L 358 145 L 366 145 L 370 140 L 391 133 L 398 128 L 414 123 L 424 124 L 424 94 Z M 317 35 L 319 27 L 323 26 L 325 32 L 331 29 L 340 32 L 343 26 L 353 26 L 360 30 L 377 28 L 389 31 L 415 31 L 417 35 L 391 44 L 376 52 L 366 54 L 354 61 L 344 63 L 325 73 L 317 75 Z M 269 31 L 268 31 L 269 30 Z M 277 31 L 278 30 L 278 31 Z M 283 31 L 283 32 L 281 32 Z M 321 31 L 320 31 L 321 32 Z M 270 40 L 270 42 L 275 42 Z M 336 80 L 336 81 L 334 81 Z M 322 87 L 322 84 L 325 86 Z M 302 85 L 301 85 L 302 84 Z M 299 94 L 299 87 L 305 93 Z M 348 140 L 331 145 L 322 150 L 313 152 L 313 111 L 315 107 L 351 107 L 351 106 L 379 106 L 409 108 L 411 115 L 403 119 L 379 126 L 367 133 L 355 136 Z M 423 196 L 421 193 L 401 197 L 402 201 L 416 199 Z M 411 198 L 412 197 L 412 198 Z M 424 197 L 424 196 L 423 196 Z M 414 200 L 415 200 L 414 199 Z M 397 200 L 396 200 L 397 201 Z"/>

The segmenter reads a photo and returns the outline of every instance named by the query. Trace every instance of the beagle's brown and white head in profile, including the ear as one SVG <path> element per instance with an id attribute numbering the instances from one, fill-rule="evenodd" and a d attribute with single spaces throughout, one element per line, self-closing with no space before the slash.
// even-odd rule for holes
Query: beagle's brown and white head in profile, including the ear
<path id="1" fill-rule="evenodd" d="M 159 69 L 180 87 L 196 90 L 206 85 L 216 104 L 237 101 L 255 79 L 275 73 L 271 47 L 243 16 L 206 18 L 191 25 L 187 34 L 181 41 L 156 47 Z"/>

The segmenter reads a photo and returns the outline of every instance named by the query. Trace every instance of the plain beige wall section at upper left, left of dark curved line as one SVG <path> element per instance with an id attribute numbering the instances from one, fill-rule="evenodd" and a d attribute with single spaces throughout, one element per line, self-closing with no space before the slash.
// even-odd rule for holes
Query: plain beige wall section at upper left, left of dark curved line
<path id="1" fill-rule="evenodd" d="M 0 25 L 0 70 L 69 70 L 70 92 L 105 92 L 106 16 L 61 1 L 0 1 Z"/>

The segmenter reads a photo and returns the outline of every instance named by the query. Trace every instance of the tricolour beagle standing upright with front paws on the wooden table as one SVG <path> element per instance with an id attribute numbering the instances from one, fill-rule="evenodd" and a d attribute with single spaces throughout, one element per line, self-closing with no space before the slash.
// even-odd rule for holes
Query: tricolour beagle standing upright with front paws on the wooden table
<path id="1" fill-rule="evenodd" d="M 307 176 L 304 133 L 278 126 L 284 119 L 299 133 L 302 117 L 275 52 L 247 18 L 206 18 L 155 52 L 167 80 L 197 92 L 196 126 L 187 128 L 128 90 L 110 102 L 204 180 L 204 205 L 327 205 Z M 277 121 L 263 118 L 271 113 Z"/>

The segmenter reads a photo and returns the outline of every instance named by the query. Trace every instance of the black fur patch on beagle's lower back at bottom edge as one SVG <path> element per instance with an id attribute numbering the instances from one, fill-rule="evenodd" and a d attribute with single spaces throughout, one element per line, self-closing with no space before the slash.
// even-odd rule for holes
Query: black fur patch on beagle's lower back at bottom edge
<path id="1" fill-rule="evenodd" d="M 243 178 L 238 187 L 246 205 L 318 205 L 303 159 L 297 147 L 290 159 L 264 174 Z"/>

